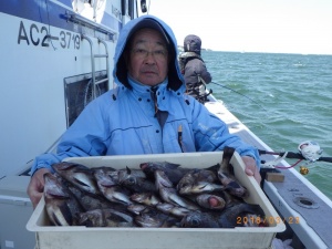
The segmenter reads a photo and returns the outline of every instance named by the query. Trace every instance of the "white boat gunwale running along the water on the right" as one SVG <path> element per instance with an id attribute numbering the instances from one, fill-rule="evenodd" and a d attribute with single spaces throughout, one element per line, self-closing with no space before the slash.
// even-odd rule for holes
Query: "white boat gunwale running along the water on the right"
<path id="1" fill-rule="evenodd" d="M 281 219 L 287 225 L 287 230 L 277 235 L 277 238 L 283 241 L 292 240 L 292 248 L 331 248 L 332 241 L 329 222 L 326 222 L 332 216 L 331 199 L 289 165 L 287 154 L 277 153 L 278 156 L 276 156 L 276 154 L 268 153 L 272 149 L 231 114 L 222 102 L 210 95 L 205 106 L 226 122 L 230 133 L 239 135 L 245 142 L 262 152 L 262 176 L 269 172 L 281 175 L 281 179 L 263 179 L 262 181 L 264 194 L 280 215 L 274 218 Z M 293 153 L 289 154 L 290 158 L 301 158 L 298 156 L 299 153 L 294 156 L 291 154 Z M 326 158 L 326 162 L 331 162 L 331 157 Z M 276 166 L 287 169 L 278 170 Z"/>

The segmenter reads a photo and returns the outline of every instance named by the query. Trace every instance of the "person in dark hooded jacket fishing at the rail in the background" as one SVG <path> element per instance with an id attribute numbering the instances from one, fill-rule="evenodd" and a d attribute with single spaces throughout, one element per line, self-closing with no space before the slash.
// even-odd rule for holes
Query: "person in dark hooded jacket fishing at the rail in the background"
<path id="1" fill-rule="evenodd" d="M 212 77 L 207 71 L 204 60 L 200 56 L 201 40 L 195 34 L 189 34 L 184 40 L 184 53 L 179 55 L 181 73 L 185 76 L 187 93 L 200 103 L 207 102 L 206 84 Z"/>

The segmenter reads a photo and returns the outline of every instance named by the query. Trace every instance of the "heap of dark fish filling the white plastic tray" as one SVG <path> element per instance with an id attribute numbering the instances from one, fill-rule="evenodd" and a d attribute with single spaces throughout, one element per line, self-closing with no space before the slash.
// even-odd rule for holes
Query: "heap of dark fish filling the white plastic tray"
<path id="1" fill-rule="evenodd" d="M 258 224 L 264 216 L 260 206 L 243 200 L 247 194 L 243 195 L 234 175 L 232 153 L 232 148 L 226 148 L 221 163 L 207 168 L 181 168 L 167 162 L 144 163 L 139 169 L 55 164 L 55 173 L 44 176 L 50 224 L 153 228 L 266 226 L 262 221 Z"/>

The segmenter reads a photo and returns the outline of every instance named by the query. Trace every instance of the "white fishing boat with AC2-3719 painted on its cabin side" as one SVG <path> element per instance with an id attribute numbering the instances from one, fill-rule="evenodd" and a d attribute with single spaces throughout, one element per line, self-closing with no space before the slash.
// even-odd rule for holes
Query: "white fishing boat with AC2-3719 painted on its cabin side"
<path id="1" fill-rule="evenodd" d="M 139 12 L 145 0 L 17 0 L 0 4 L 1 170 L 0 248 L 29 249 L 35 235 L 25 226 L 33 212 L 27 195 L 35 155 L 54 152 L 84 106 L 113 87 L 110 69 L 118 32 Z M 293 248 L 331 248 L 332 201 L 241 123 L 220 100 L 209 95 L 205 106 L 229 131 L 257 146 L 282 180 L 262 181 Z M 6 118 L 4 118 L 6 117 Z M 280 179 L 280 178 L 279 178 Z M 271 248 L 277 248 L 271 245 Z"/>

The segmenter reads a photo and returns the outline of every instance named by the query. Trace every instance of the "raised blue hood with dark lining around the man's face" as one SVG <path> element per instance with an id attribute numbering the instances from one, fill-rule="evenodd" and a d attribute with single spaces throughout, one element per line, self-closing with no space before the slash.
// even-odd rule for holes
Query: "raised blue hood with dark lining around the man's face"
<path id="1" fill-rule="evenodd" d="M 120 32 L 114 55 L 113 77 L 116 84 L 132 89 L 127 77 L 127 65 L 124 52 L 128 46 L 132 35 L 139 29 L 152 28 L 159 31 L 165 38 L 169 46 L 169 64 L 168 64 L 168 85 L 167 87 L 177 91 L 180 86 L 185 87 L 185 81 L 180 73 L 177 61 L 177 41 L 172 29 L 160 19 L 146 14 L 127 22 Z"/>

